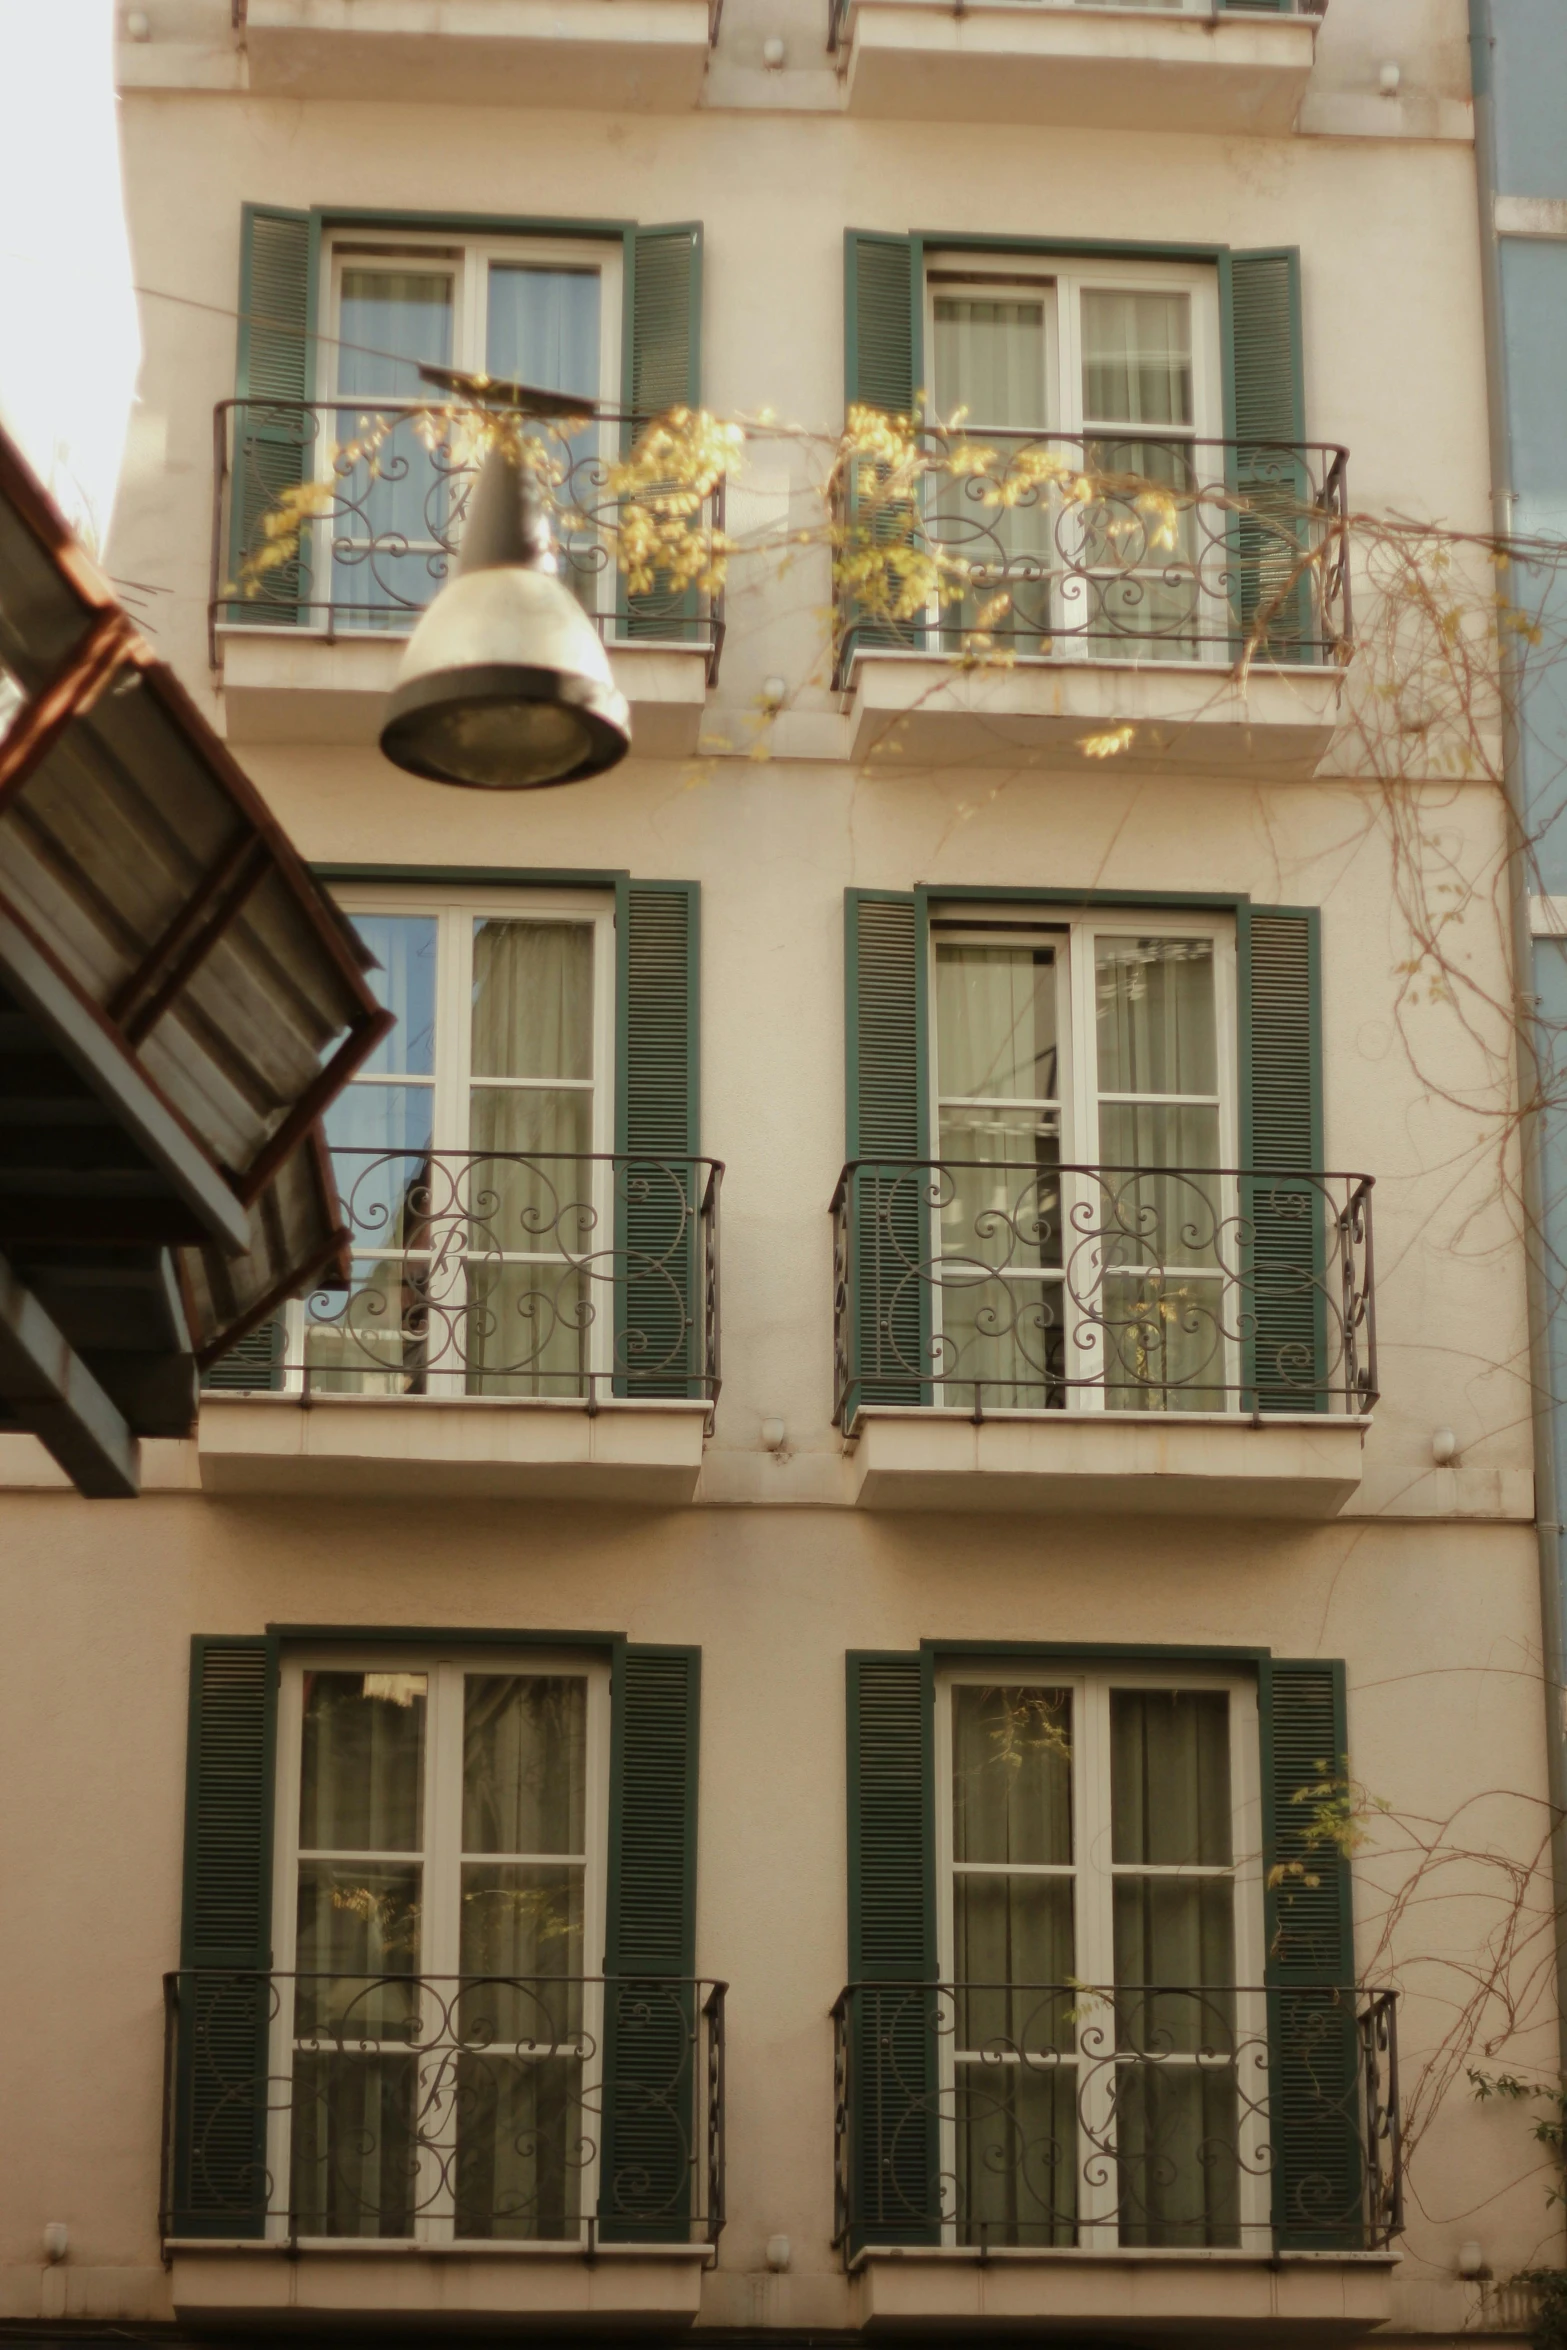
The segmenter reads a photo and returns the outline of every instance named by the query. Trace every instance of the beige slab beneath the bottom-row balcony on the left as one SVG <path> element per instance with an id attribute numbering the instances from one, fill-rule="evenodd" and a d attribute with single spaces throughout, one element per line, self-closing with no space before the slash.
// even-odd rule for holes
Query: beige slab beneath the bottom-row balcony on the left
<path id="1" fill-rule="evenodd" d="M 688 2326 L 702 2298 L 705 2244 L 576 2244 L 517 2251 L 331 2244 L 176 2244 L 174 2315 L 209 2326 Z"/>

